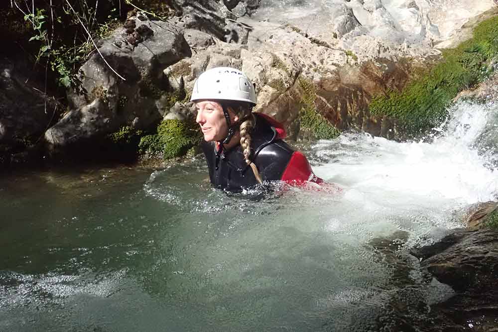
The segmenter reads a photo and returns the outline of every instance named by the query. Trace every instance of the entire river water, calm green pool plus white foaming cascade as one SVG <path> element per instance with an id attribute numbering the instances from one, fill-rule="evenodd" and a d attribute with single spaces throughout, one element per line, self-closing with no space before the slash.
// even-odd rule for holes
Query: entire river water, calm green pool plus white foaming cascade
<path id="1" fill-rule="evenodd" d="M 451 113 L 419 142 L 303 147 L 341 190 L 229 196 L 200 157 L 4 175 L 0 331 L 369 331 L 408 284 L 407 312 L 445 299 L 407 250 L 498 193 L 498 107 Z"/>

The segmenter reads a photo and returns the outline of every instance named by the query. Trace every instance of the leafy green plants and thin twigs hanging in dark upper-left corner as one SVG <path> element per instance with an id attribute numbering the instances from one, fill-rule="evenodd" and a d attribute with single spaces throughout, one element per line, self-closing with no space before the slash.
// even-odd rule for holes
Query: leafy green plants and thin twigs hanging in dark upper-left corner
<path id="1" fill-rule="evenodd" d="M 154 19 L 173 13 L 163 0 L 46 0 L 4 1 L 0 33 L 17 41 L 9 49 L 23 50 L 41 66 L 50 82 L 62 88 L 79 86 L 77 73 L 95 50 L 95 42 L 109 37 L 129 10 Z"/>

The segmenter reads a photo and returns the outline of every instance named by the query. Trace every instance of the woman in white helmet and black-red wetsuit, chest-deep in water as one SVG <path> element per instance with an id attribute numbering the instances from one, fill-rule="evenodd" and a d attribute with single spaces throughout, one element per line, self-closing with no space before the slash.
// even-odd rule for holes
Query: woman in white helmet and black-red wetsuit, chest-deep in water
<path id="1" fill-rule="evenodd" d="M 202 148 L 216 188 L 240 192 L 263 181 L 323 182 L 306 157 L 282 140 L 285 130 L 280 123 L 252 112 L 254 85 L 243 72 L 228 67 L 207 70 L 194 83 L 190 101 L 196 105 Z"/>

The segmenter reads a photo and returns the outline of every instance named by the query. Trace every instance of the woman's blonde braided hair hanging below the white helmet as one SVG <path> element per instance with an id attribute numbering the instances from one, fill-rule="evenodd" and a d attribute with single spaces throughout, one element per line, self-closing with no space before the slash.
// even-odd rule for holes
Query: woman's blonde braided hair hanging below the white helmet
<path id="1" fill-rule="evenodd" d="M 227 110 L 230 109 L 233 111 L 239 117 L 239 131 L 241 134 L 241 146 L 242 153 L 244 154 L 244 160 L 252 169 L 252 173 L 254 173 L 254 177 L 257 182 L 262 183 L 263 181 L 261 180 L 261 176 L 259 175 L 256 165 L 250 160 L 250 134 L 254 128 L 254 124 L 256 123 L 254 114 L 252 114 L 252 104 L 236 101 L 223 101 L 222 105 Z"/>

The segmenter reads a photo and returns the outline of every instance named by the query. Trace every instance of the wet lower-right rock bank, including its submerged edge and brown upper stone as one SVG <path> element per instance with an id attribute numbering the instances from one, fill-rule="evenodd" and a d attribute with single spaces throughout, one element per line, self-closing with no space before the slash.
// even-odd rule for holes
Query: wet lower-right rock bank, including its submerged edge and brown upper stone
<path id="1" fill-rule="evenodd" d="M 496 202 L 469 208 L 472 228 L 454 229 L 434 244 L 404 247 L 408 233 L 374 238 L 392 274 L 374 331 L 498 331 L 498 231 L 486 226 Z M 479 226 L 476 220 L 480 220 Z"/>

